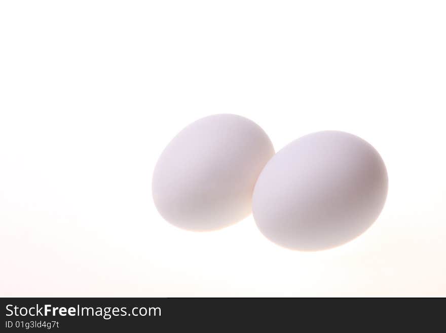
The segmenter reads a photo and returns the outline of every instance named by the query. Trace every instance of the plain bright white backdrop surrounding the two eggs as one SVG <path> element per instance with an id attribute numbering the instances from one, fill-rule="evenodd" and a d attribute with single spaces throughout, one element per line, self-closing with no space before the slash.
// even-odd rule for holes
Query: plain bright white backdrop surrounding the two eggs
<path id="1" fill-rule="evenodd" d="M 2 1 L 2 296 L 446 296 L 444 1 Z M 389 173 L 376 223 L 304 253 L 252 217 L 193 233 L 151 198 L 198 118 L 276 150 L 343 130 Z"/>

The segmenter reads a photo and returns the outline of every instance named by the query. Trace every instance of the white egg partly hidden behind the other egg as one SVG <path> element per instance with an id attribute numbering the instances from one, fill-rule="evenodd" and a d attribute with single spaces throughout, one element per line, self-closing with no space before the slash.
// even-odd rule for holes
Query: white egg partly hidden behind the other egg
<path id="1" fill-rule="evenodd" d="M 161 154 L 152 180 L 155 206 L 186 230 L 232 225 L 251 214 L 255 182 L 273 155 L 268 135 L 249 119 L 230 114 L 199 119 Z"/>

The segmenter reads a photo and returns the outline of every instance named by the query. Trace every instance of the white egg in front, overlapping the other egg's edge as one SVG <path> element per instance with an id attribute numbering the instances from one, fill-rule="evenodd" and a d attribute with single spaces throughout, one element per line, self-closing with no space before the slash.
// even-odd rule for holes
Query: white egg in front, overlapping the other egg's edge
<path id="1" fill-rule="evenodd" d="M 344 244 L 378 218 L 388 177 L 381 156 L 349 133 L 322 131 L 285 146 L 255 184 L 252 209 L 274 243 L 317 251 Z"/>

